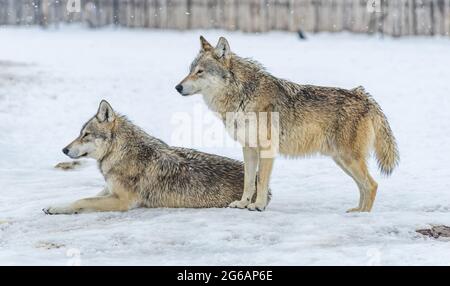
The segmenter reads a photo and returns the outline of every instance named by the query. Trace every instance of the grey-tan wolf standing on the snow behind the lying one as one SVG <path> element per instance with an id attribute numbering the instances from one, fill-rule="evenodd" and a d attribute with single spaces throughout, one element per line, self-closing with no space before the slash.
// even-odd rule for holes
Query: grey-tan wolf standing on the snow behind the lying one
<path id="1" fill-rule="evenodd" d="M 368 154 L 375 149 L 379 168 L 386 175 L 398 164 L 399 155 L 386 116 L 362 87 L 346 90 L 296 84 L 276 78 L 257 62 L 232 53 L 223 37 L 216 47 L 203 37 L 200 42 L 201 50 L 189 75 L 176 86 L 179 93 L 202 94 L 224 123 L 230 112 L 278 114 L 279 153 L 332 157 L 360 191 L 359 205 L 349 211 L 372 209 L 377 183 L 367 169 Z M 260 126 L 257 128 L 260 130 Z M 274 158 L 261 156 L 261 145 L 240 143 L 244 143 L 244 192 L 230 207 L 264 210 Z M 255 180 L 257 198 L 252 203 Z"/>

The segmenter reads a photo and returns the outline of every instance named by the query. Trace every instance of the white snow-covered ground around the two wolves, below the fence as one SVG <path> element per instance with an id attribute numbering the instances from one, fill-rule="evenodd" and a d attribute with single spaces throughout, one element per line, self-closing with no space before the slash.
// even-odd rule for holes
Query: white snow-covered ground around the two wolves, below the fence
<path id="1" fill-rule="evenodd" d="M 372 213 L 345 213 L 356 206 L 358 191 L 327 158 L 278 159 L 273 201 L 263 213 L 41 212 L 102 188 L 92 161 L 71 172 L 52 168 L 67 161 L 61 148 L 100 99 L 168 143 L 176 114 L 208 116 L 200 96 L 184 98 L 174 89 L 201 33 L 214 42 L 228 36 L 234 51 L 275 75 L 364 85 L 374 95 L 402 161 L 383 178 L 371 160 L 379 182 Z M 287 33 L 0 28 L 0 264 L 450 265 L 450 242 L 415 233 L 450 224 L 449 51 L 444 38 L 324 34 L 299 41 Z M 197 143 L 183 145 L 241 159 L 237 147 Z"/>

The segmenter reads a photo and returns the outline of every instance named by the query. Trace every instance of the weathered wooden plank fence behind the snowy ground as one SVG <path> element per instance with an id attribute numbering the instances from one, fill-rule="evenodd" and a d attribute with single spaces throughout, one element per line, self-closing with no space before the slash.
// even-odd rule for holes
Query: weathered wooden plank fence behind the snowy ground
<path id="1" fill-rule="evenodd" d="M 62 23 L 448 36 L 450 0 L 0 0 L 0 25 Z"/>

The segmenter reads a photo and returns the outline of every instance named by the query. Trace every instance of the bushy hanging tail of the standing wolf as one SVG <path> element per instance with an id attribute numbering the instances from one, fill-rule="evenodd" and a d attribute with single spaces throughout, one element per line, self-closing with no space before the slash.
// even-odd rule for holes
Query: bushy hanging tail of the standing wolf
<path id="1" fill-rule="evenodd" d="M 375 128 L 375 155 L 381 173 L 389 176 L 398 165 L 400 155 L 387 118 L 379 108 L 378 104 L 376 104 L 376 107 L 373 119 Z"/>

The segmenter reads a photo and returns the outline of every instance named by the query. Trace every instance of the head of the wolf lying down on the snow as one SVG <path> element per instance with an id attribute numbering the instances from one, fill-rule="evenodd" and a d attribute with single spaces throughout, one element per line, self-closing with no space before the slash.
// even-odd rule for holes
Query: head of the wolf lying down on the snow
<path id="1" fill-rule="evenodd" d="M 111 105 L 102 100 L 97 114 L 83 125 L 80 135 L 62 150 L 63 153 L 72 159 L 102 159 L 112 144 L 116 117 Z"/>

